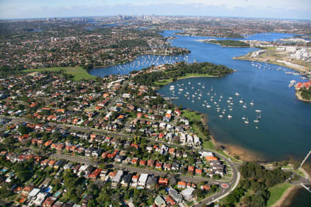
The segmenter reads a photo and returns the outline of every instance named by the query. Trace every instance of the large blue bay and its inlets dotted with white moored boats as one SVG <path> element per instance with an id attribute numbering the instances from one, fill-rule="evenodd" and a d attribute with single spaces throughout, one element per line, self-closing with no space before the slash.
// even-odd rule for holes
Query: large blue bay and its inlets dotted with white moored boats
<path id="1" fill-rule="evenodd" d="M 175 36 L 177 39 L 169 40 L 173 46 L 188 48 L 191 50 L 189 55 L 170 56 L 148 56 L 144 55 L 131 63 L 111 66 L 107 68 L 97 68 L 90 71 L 91 75 L 127 74 L 131 70 L 140 70 L 151 66 L 151 64 L 162 64 L 166 62 L 182 61 L 202 62 L 222 64 L 233 68 L 234 72 L 227 77 L 200 77 L 192 79 L 183 79 L 171 83 L 184 84 L 184 91 L 180 94 L 175 93 L 176 99 L 173 101 L 176 105 L 182 105 L 192 110 L 198 110 L 208 115 L 208 125 L 216 139 L 226 144 L 235 144 L 242 146 L 258 154 L 264 155 L 265 159 L 284 159 L 288 155 L 294 155 L 298 158 L 303 157 L 311 146 L 311 104 L 299 101 L 294 96 L 294 89 L 288 88 L 290 80 L 301 81 L 299 76 L 285 74 L 285 71 L 292 71 L 288 68 L 275 66 L 272 64 L 260 63 L 261 68 L 252 66 L 250 61 L 234 60 L 237 57 L 256 50 L 256 48 L 225 48 L 212 43 L 202 43 L 195 41 L 198 39 L 209 39 L 209 37 L 187 37 L 173 35 L 176 31 L 165 31 L 164 36 Z M 261 33 L 254 34 L 246 39 L 258 39 L 263 41 L 274 41 L 284 37 L 292 37 L 294 34 L 281 33 Z M 158 61 L 156 61 L 158 59 Z M 138 66 L 138 63 L 140 65 Z M 257 64 L 257 63 L 255 63 Z M 259 63 L 258 63 L 259 64 Z M 189 85 L 188 82 L 191 82 Z M 198 83 L 201 85 L 198 85 Z M 171 96 L 169 86 L 164 86 L 159 90 L 160 94 Z M 194 86 L 197 93 L 202 92 L 202 98 L 187 99 L 185 92 L 194 93 L 191 87 Z M 202 86 L 205 86 L 205 89 Z M 227 108 L 223 118 L 218 117 L 216 106 L 210 103 L 210 97 L 207 96 L 207 90 L 213 87 L 216 91 L 218 102 L 219 96 L 223 95 L 223 100 L 218 103 L 219 108 L 227 108 L 228 97 L 233 97 L 233 110 L 230 112 L 232 119 L 227 119 L 229 110 Z M 198 90 L 199 89 L 199 90 Z M 240 95 L 236 97 L 235 92 Z M 247 102 L 247 108 L 244 109 L 238 100 L 243 99 Z M 249 102 L 254 100 L 254 106 Z M 211 108 L 203 107 L 204 100 L 209 101 Z M 258 124 L 254 123 L 256 115 L 255 110 L 261 110 L 262 119 Z M 249 124 L 245 124 L 243 116 L 249 117 Z M 258 129 L 256 129 L 256 126 Z"/>

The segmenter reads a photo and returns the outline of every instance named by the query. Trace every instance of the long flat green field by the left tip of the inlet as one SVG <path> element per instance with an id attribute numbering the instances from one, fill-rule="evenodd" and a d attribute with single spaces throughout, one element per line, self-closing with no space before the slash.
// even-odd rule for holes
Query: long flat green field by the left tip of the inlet
<path id="1" fill-rule="evenodd" d="M 41 72 L 41 71 L 60 71 L 64 70 L 68 75 L 73 75 L 74 81 L 79 81 L 81 79 L 95 79 L 95 76 L 89 75 L 86 70 L 83 70 L 82 67 L 53 67 L 53 68 L 37 68 L 37 69 L 28 69 L 23 70 L 23 72 Z"/>

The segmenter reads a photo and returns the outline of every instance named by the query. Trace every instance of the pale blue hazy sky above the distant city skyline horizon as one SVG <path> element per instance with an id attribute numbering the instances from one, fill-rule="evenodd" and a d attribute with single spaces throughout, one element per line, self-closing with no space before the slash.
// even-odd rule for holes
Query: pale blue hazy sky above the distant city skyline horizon
<path id="1" fill-rule="evenodd" d="M 311 0 L 0 0 L 0 19 L 116 14 L 311 19 Z"/>

